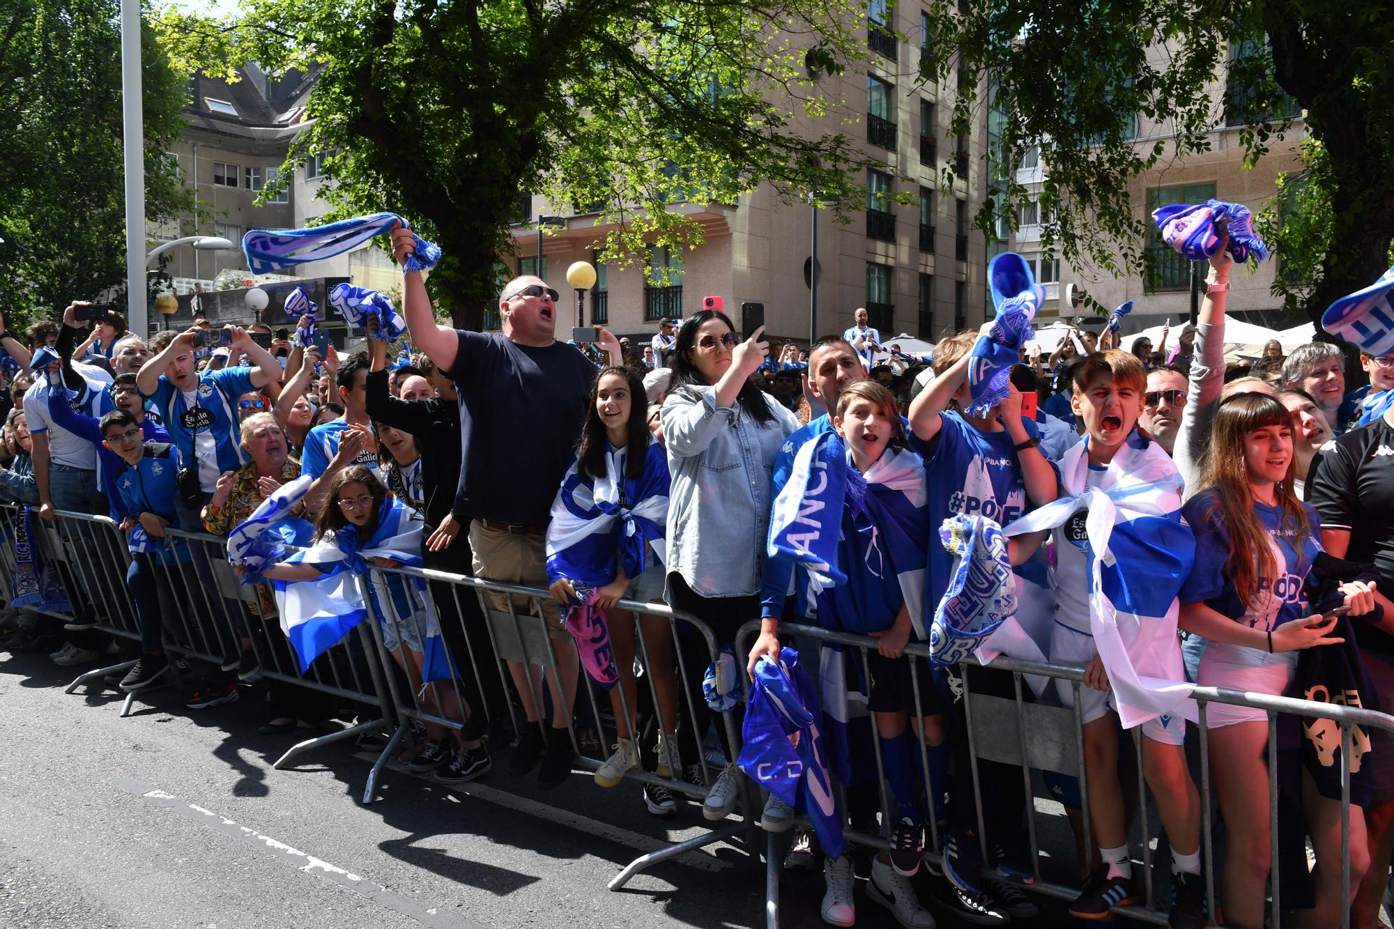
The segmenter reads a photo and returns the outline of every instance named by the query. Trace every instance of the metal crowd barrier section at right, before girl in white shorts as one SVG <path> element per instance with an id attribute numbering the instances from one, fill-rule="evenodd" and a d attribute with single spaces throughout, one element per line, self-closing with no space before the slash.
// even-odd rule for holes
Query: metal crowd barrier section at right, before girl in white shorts
<path id="1" fill-rule="evenodd" d="M 760 622 L 751 621 L 740 628 L 736 636 L 736 654 L 749 654 L 750 646 L 754 643 L 756 635 L 760 632 Z M 875 639 L 870 636 L 859 636 L 845 632 L 836 632 L 829 629 L 822 629 L 820 626 L 806 626 L 789 622 L 779 624 L 779 633 L 782 639 L 804 639 L 813 640 L 821 644 L 839 644 L 843 647 L 855 649 L 857 651 L 857 658 L 863 671 L 867 670 L 867 653 L 877 649 Z M 926 643 L 910 643 L 905 649 L 905 654 L 917 656 L 920 658 L 928 657 L 928 646 Z M 1011 674 L 1011 682 L 1013 689 L 1013 699 L 1004 699 L 999 696 L 991 696 L 986 693 L 974 693 L 972 688 L 967 686 L 967 670 L 970 665 L 981 667 L 990 672 Z M 810 658 L 804 663 L 806 668 L 817 667 L 817 664 Z M 1032 884 L 1020 884 L 1019 887 L 1025 891 L 1039 891 L 1041 894 L 1055 897 L 1058 900 L 1072 901 L 1079 896 L 1076 887 L 1069 887 L 1065 884 L 1058 884 L 1052 882 L 1046 882 L 1041 877 L 1040 861 L 1041 848 L 1039 844 L 1039 829 L 1036 809 L 1036 796 L 1032 783 L 1032 770 L 1048 770 L 1057 771 L 1059 774 L 1066 774 L 1069 777 L 1076 777 L 1079 780 L 1079 794 L 1082 801 L 1082 817 L 1083 817 L 1083 837 L 1085 845 L 1078 848 L 1075 854 L 1085 856 L 1089 861 L 1090 849 L 1093 848 L 1093 837 L 1090 833 L 1090 813 L 1089 813 L 1089 783 L 1087 773 L 1085 771 L 1085 745 L 1083 745 L 1083 723 L 1080 716 L 1080 688 L 1083 683 L 1083 668 L 1076 668 L 1071 665 L 1057 665 L 1057 664 L 1041 664 L 1034 661 L 1025 661 L 1020 658 L 1009 658 L 1006 656 L 998 657 L 990 665 L 980 665 L 976 660 L 969 660 L 958 665 L 958 681 L 963 683 L 963 711 L 967 723 L 967 737 L 969 737 L 969 759 L 972 766 L 972 784 L 974 795 L 974 815 L 977 824 L 977 838 L 983 852 L 984 866 L 988 861 L 988 836 L 986 830 L 984 813 L 983 813 L 983 792 L 981 781 L 979 778 L 979 760 L 991 760 L 1002 764 L 1009 764 L 1019 767 L 1022 773 L 1022 783 L 1026 795 L 1026 809 L 1023 810 L 1026 816 L 1027 837 L 1030 843 L 1030 861 L 1033 868 L 1034 882 Z M 1073 688 L 1073 707 L 1066 709 L 1061 706 L 1051 706 L 1048 703 L 1037 703 L 1034 700 L 1027 700 L 1025 697 L 1025 678 L 1027 675 L 1039 675 L 1041 678 L 1052 678 L 1069 681 Z M 814 675 L 811 675 L 814 677 Z M 867 675 L 870 678 L 870 675 Z M 913 678 L 912 678 L 913 682 Z M 814 679 L 815 686 L 818 681 Z M 749 688 L 749 682 L 746 683 Z M 1281 900 L 1281 883 L 1280 883 L 1280 865 L 1278 865 L 1278 716 L 1289 714 L 1301 718 L 1324 718 L 1330 720 L 1333 725 L 1340 728 L 1341 732 L 1341 886 L 1351 886 L 1351 766 L 1349 757 L 1352 750 L 1352 730 L 1361 730 L 1362 737 L 1368 737 L 1370 730 L 1383 730 L 1386 732 L 1394 732 L 1394 716 L 1387 713 L 1380 713 L 1376 710 L 1349 707 L 1327 702 L 1316 700 L 1296 700 L 1284 696 L 1270 696 L 1264 693 L 1250 693 L 1239 690 L 1228 690 L 1224 688 L 1213 686 L 1196 686 L 1192 692 L 1193 697 L 1199 706 L 1199 725 L 1188 727 L 1188 742 L 1192 738 L 1199 741 L 1200 749 L 1200 771 L 1197 778 L 1197 788 L 1200 791 L 1200 812 L 1202 812 L 1202 862 L 1203 873 L 1206 877 L 1206 900 L 1209 902 L 1209 912 L 1211 919 L 1214 914 L 1218 912 L 1216 908 L 1216 875 L 1223 862 L 1217 863 L 1213 855 L 1211 847 L 1211 827 L 1214 815 L 1211 813 L 1211 788 L 1210 788 L 1210 757 L 1209 757 L 1209 730 L 1206 727 L 1206 711 L 1211 703 L 1225 703 L 1231 706 L 1243 706 L 1260 709 L 1267 713 L 1269 717 L 1269 816 L 1270 816 L 1270 843 L 1271 843 L 1271 865 L 1270 865 L 1270 898 L 1273 901 L 1271 914 L 1269 916 L 1267 925 L 1273 929 L 1281 929 L 1282 914 L 1278 901 Z M 916 714 L 919 714 L 921 703 L 921 695 L 919 686 L 914 685 L 914 703 Z M 912 730 L 906 730 L 910 732 Z M 877 770 L 884 773 L 884 762 L 881 757 L 880 737 L 873 721 L 871 725 L 873 739 L 875 743 L 877 755 Z M 1140 730 L 1132 731 L 1132 739 L 1135 745 L 1136 766 L 1138 766 L 1138 790 L 1139 790 L 1139 803 L 1136 810 L 1136 827 L 1140 831 L 1140 847 L 1143 855 L 1143 902 L 1135 907 L 1121 907 L 1115 912 L 1139 919 L 1142 922 L 1149 922 L 1154 925 L 1167 925 L 1167 911 L 1157 905 L 1157 900 L 1153 889 L 1151 879 L 1151 840 L 1157 838 L 1158 834 L 1150 829 L 1147 817 L 1146 798 L 1146 780 L 1143 776 L 1143 756 L 1142 756 L 1142 732 Z M 928 760 L 924 752 L 923 742 L 916 739 L 919 743 L 919 759 L 920 759 L 920 787 L 924 790 L 924 795 L 930 796 L 930 774 L 928 774 Z M 839 785 L 841 787 L 841 785 Z M 867 848 L 888 848 L 888 830 L 896 822 L 889 812 L 885 778 L 882 776 L 880 783 L 880 799 L 881 799 L 881 834 L 868 834 L 856 830 L 845 830 L 846 838 L 857 845 Z M 845 795 L 842 796 L 842 810 L 846 810 Z M 843 816 L 845 819 L 845 816 Z M 942 856 L 938 854 L 940 841 L 938 831 L 934 826 L 934 816 L 927 817 L 930 822 L 931 841 L 926 844 L 924 859 L 938 865 Z M 1291 837 L 1288 837 L 1291 838 Z M 1129 848 L 1136 847 L 1139 843 L 1135 838 L 1132 827 L 1129 827 Z M 1061 849 L 1057 849 L 1059 854 Z M 1069 859 L 1068 849 L 1065 851 L 1065 859 Z M 776 929 L 778 926 L 778 909 L 775 901 L 778 900 L 778 875 L 774 855 L 771 855 L 768 865 L 768 880 L 767 880 L 767 925 L 769 929 Z M 1349 907 L 1344 908 L 1342 929 L 1349 929 Z"/>

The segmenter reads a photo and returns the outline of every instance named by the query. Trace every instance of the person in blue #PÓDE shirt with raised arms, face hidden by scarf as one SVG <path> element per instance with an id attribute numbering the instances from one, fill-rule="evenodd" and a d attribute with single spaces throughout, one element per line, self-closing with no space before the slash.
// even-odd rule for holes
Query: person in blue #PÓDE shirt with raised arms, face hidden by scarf
<path id="1" fill-rule="evenodd" d="M 1022 418 L 1022 396 L 1015 386 L 1008 399 L 987 416 L 966 413 L 972 395 L 967 365 L 973 343 L 987 333 L 991 322 L 979 332 L 967 331 L 941 339 L 934 350 L 934 379 L 910 405 L 910 448 L 924 458 L 928 476 L 930 531 L 928 571 L 926 572 L 926 608 L 933 614 L 942 600 L 953 571 L 953 557 L 938 544 L 938 527 L 953 515 L 981 515 L 1006 524 L 1032 506 L 1055 499 L 1057 477 L 1041 455 L 1034 423 Z M 948 410 L 949 405 L 956 410 Z M 973 693 L 995 693 L 1015 699 L 1009 675 L 986 668 L 969 671 L 965 686 Z M 962 693 L 962 688 L 956 689 Z M 955 699 L 955 724 L 966 732 L 960 699 Z M 1001 922 L 1008 915 L 1032 918 L 1036 907 L 1011 883 L 994 880 L 983 886 L 981 843 L 977 836 L 973 802 L 972 766 L 967 739 L 948 741 L 953 750 L 953 792 L 947 806 L 949 836 L 944 843 L 945 876 L 953 884 L 963 916 L 973 921 Z M 979 760 L 983 820 L 987 848 L 999 877 L 1027 882 L 1032 863 L 1019 859 L 1026 845 L 1022 815 L 1026 792 L 1020 767 Z"/>

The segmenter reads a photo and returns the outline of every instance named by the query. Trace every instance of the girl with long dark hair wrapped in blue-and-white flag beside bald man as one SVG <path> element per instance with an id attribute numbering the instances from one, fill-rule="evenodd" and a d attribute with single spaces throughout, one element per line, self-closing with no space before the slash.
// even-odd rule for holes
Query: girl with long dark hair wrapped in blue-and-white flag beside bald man
<path id="1" fill-rule="evenodd" d="M 552 597 L 567 614 L 577 644 L 594 640 L 587 626 L 608 625 L 615 675 L 609 689 L 618 743 L 595 771 L 595 783 L 615 787 L 625 771 L 640 766 L 634 714 L 634 615 L 616 610 L 618 600 L 659 603 L 668 527 L 668 458 L 648 431 L 648 403 L 638 371 L 604 368 L 591 386 L 576 460 L 562 478 L 546 527 L 546 577 Z M 590 622 L 585 622 L 590 619 Z M 679 777 L 677 678 L 673 674 L 672 628 L 662 617 L 641 615 L 644 668 L 652 675 L 658 704 L 658 774 Z M 609 682 L 613 678 L 605 681 Z M 644 802 L 655 816 L 676 809 L 672 795 L 644 785 Z"/>

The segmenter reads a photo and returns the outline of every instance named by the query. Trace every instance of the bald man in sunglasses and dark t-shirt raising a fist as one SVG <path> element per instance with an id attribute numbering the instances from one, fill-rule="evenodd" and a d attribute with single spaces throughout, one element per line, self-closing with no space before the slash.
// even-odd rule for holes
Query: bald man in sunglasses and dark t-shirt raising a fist
<path id="1" fill-rule="evenodd" d="M 415 251 L 410 230 L 392 232 L 397 264 Z M 546 520 L 585 423 L 595 365 L 576 346 L 558 342 L 558 293 L 533 275 L 503 286 L 499 317 L 503 335 L 467 332 L 438 325 L 420 272 L 403 279 L 403 312 L 411 342 L 452 381 L 460 405 L 460 484 L 456 513 L 470 522 L 474 573 L 487 580 L 546 587 Z M 595 328 L 601 349 L 618 364 L 619 342 Z M 509 598 L 488 594 L 492 611 L 507 611 Z M 513 598 L 514 612 L 527 611 L 526 597 Z M 551 612 L 551 611 L 549 611 Z M 553 617 L 556 614 L 552 614 Z M 520 622 L 530 622 L 526 617 Z M 570 723 L 560 707 L 574 709 L 580 657 L 572 636 L 555 619 L 546 622 L 560 681 L 551 672 L 552 732 L 538 730 L 541 671 L 509 661 L 509 674 L 530 725 L 519 734 L 509 774 L 520 776 L 546 755 L 538 771 L 541 787 L 556 787 L 572 770 Z"/>

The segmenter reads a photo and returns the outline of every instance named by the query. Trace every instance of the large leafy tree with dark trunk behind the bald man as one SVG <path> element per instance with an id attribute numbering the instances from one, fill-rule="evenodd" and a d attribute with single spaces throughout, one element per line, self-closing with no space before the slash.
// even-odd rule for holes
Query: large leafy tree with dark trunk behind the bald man
<path id="1" fill-rule="evenodd" d="M 769 183 L 852 202 L 864 156 L 809 126 L 835 109 L 817 78 L 863 53 L 845 25 L 863 17 L 852 0 L 247 0 L 237 20 L 159 24 L 191 68 L 318 68 L 289 162 L 328 153 L 336 215 L 411 218 L 445 254 L 434 299 L 477 328 L 528 192 L 599 209 L 620 259 L 700 241 L 677 201 Z"/>

